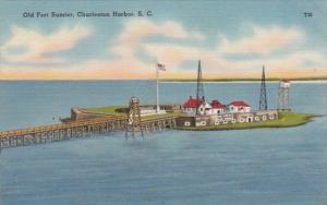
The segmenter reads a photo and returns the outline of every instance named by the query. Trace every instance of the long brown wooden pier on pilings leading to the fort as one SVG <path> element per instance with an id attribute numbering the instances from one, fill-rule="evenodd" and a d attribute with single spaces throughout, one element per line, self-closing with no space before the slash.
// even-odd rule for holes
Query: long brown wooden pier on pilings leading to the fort
<path id="1" fill-rule="evenodd" d="M 142 120 L 141 126 L 144 132 L 164 131 L 174 128 L 177 125 L 175 119 L 177 117 L 162 117 Z M 124 131 L 126 123 L 126 117 L 111 116 L 69 123 L 3 131 L 0 132 L 0 149 Z"/>

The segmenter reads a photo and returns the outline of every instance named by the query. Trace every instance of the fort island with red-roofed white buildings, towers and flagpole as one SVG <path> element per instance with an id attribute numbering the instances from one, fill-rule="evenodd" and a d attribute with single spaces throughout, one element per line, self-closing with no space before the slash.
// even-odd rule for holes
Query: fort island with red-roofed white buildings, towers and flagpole
<path id="1" fill-rule="evenodd" d="M 158 65 L 160 68 L 164 67 L 161 64 Z M 169 128 L 177 130 L 214 131 L 298 126 L 310 122 L 315 117 L 311 113 L 291 110 L 290 80 L 279 81 L 278 104 L 276 108 L 268 108 L 265 67 L 263 67 L 261 89 L 258 89 L 259 104 L 257 109 L 253 109 L 253 106 L 242 99 L 222 102 L 217 98 L 209 99 L 205 96 L 201 61 L 198 61 L 197 67 L 195 96 L 190 95 L 184 102 L 159 105 L 158 82 L 157 79 L 156 105 L 142 105 L 137 97 L 131 97 L 129 106 L 73 108 L 71 118 L 63 120 L 63 122 L 98 118 L 102 114 L 124 117 L 128 122 L 125 124 L 126 130 L 132 126 L 133 129 L 137 128 L 141 132 L 143 126 L 146 128 L 145 130 L 148 130 L 148 123 L 146 122 L 149 121 L 157 121 L 157 126 L 166 128 L 166 122 L 162 122 L 164 125 L 158 125 L 158 121 L 162 119 L 173 119 L 169 121 Z M 171 124 L 172 122 L 173 124 Z"/>

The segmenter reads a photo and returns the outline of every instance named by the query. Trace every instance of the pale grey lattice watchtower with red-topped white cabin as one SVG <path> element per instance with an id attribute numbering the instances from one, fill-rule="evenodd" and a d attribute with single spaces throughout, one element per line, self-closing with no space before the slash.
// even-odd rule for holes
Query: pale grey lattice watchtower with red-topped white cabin
<path id="1" fill-rule="evenodd" d="M 282 80 L 279 82 L 277 109 L 290 110 L 290 86 L 289 81 Z"/>

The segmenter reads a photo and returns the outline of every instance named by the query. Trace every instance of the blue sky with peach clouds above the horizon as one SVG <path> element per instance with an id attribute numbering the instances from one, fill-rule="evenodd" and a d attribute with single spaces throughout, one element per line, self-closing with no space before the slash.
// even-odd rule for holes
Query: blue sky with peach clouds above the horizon
<path id="1" fill-rule="evenodd" d="M 326 20 L 325 0 L 0 0 L 0 80 L 155 79 L 157 63 L 193 79 L 198 60 L 204 79 L 326 77 Z"/>

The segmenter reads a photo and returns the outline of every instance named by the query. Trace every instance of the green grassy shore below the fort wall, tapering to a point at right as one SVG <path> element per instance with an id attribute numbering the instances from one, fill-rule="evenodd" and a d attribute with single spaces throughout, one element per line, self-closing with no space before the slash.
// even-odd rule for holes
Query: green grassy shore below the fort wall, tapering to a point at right
<path id="1" fill-rule="evenodd" d="M 220 124 L 211 126 L 197 126 L 197 128 L 185 128 L 179 126 L 178 130 L 190 130 L 190 131 L 214 131 L 214 130 L 244 130 L 244 129 L 255 129 L 255 128 L 288 128 L 288 126 L 299 126 L 305 124 L 314 118 L 314 114 L 300 113 L 283 111 L 279 112 L 278 120 L 268 120 L 259 122 L 245 122 L 235 124 Z"/>

